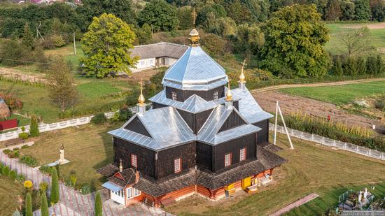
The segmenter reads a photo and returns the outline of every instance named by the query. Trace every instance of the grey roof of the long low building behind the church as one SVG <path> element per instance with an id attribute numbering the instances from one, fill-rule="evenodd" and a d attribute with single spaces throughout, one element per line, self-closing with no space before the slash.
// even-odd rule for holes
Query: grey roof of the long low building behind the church
<path id="1" fill-rule="evenodd" d="M 160 42 L 148 45 L 137 45 L 132 49 L 131 56 L 137 56 L 140 59 L 157 57 L 172 57 L 174 59 L 179 59 L 187 49 L 187 45 Z"/>

